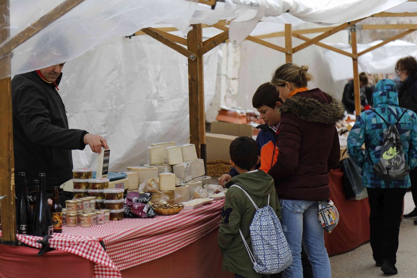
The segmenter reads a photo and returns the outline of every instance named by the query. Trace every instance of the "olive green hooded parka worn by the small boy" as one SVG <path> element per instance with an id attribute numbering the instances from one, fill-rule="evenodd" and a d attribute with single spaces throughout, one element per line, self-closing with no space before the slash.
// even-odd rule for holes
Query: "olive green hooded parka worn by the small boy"
<path id="1" fill-rule="evenodd" d="M 233 184 L 243 188 L 258 208 L 267 204 L 268 194 L 270 194 L 269 205 L 276 211 L 276 215 L 281 220 L 281 206 L 276 195 L 274 180 L 270 175 L 262 170 L 243 173 L 233 177 L 227 186 L 230 187 Z M 240 228 L 252 251 L 249 226 L 255 212 L 254 205 L 241 189 L 237 187 L 229 188 L 221 211 L 218 245 L 223 254 L 223 269 L 247 278 L 264 277 L 262 274 L 255 272 L 254 265 L 239 234 Z"/>

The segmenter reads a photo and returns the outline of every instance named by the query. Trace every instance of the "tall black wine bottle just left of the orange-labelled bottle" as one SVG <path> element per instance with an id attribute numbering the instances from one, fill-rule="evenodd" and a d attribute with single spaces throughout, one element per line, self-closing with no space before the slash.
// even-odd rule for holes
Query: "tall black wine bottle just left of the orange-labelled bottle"
<path id="1" fill-rule="evenodd" d="M 39 173 L 39 195 L 33 210 L 33 235 L 52 235 L 52 217 L 45 194 L 45 173 Z"/>

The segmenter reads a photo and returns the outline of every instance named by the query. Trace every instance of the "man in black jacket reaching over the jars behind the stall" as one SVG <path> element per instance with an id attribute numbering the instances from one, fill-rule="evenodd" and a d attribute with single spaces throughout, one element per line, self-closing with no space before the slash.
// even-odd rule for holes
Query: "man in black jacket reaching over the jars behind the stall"
<path id="1" fill-rule="evenodd" d="M 65 63 L 16 75 L 12 80 L 15 174 L 25 172 L 28 189 L 38 173 L 46 174 L 46 191 L 72 178 L 71 150 L 90 145 L 94 153 L 108 148 L 100 135 L 69 129 L 58 93 Z M 18 187 L 16 187 L 18 189 Z"/>

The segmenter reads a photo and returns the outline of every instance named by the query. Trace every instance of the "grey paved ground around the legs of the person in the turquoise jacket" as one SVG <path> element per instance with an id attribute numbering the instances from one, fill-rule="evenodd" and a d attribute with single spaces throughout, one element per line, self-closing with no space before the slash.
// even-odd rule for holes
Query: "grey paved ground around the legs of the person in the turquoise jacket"
<path id="1" fill-rule="evenodd" d="M 411 192 L 405 195 L 404 213 L 414 209 Z M 358 248 L 330 258 L 332 277 L 386 277 L 381 269 L 375 266 L 372 258 L 371 245 L 362 244 Z M 395 278 L 417 277 L 417 225 L 413 220 L 404 219 L 399 231 L 399 247 L 397 252 L 398 274 Z"/>

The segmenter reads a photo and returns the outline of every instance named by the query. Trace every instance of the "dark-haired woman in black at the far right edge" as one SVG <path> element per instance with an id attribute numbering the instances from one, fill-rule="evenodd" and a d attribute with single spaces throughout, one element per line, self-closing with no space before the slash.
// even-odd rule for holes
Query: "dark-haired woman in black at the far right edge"
<path id="1" fill-rule="evenodd" d="M 417 60 L 412 56 L 401 58 L 395 64 L 401 86 L 398 90 L 399 107 L 417 113 Z M 404 214 L 404 218 L 417 218 L 417 168 L 410 171 L 411 192 L 415 208 L 412 212 Z M 417 224 L 417 222 L 414 222 Z"/>

